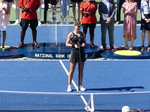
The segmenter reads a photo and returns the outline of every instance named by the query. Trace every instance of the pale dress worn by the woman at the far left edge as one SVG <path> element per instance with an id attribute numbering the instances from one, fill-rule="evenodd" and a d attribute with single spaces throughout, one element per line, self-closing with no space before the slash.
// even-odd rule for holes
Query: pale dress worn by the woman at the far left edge
<path id="1" fill-rule="evenodd" d="M 0 3 L 0 9 L 2 9 L 3 7 L 5 7 L 5 9 L 8 8 L 8 3 Z M 6 14 L 6 12 L 4 10 L 0 11 L 0 30 L 6 31 L 7 30 L 7 26 L 8 26 L 8 19 L 9 19 L 9 15 Z"/>

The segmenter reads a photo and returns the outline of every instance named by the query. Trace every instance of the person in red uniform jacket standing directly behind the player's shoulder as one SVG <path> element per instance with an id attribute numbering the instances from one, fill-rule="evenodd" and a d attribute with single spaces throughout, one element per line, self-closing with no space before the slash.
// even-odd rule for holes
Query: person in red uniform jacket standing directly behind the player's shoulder
<path id="1" fill-rule="evenodd" d="M 96 27 L 97 19 L 95 13 L 97 11 L 97 2 L 94 0 L 86 0 L 81 3 L 81 23 L 83 27 L 83 32 L 87 33 L 87 29 L 89 28 L 90 32 L 90 46 L 94 48 L 94 30 Z"/>

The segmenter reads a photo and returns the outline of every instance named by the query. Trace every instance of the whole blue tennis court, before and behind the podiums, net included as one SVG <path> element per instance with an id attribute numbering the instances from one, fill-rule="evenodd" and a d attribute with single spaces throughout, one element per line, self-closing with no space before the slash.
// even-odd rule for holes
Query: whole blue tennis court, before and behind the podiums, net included
<path id="1" fill-rule="evenodd" d="M 37 28 L 37 41 L 65 42 L 73 25 L 42 25 Z M 95 29 L 95 45 L 101 46 L 100 25 Z M 123 46 L 123 26 L 115 26 L 115 46 Z M 20 26 L 9 25 L 6 45 L 18 46 Z M 134 46 L 141 45 L 140 26 Z M 25 43 L 32 43 L 28 28 Z M 89 35 L 87 35 L 89 43 Z M 108 38 L 107 38 L 107 43 Z M 145 43 L 147 45 L 147 41 Z M 0 111 L 120 112 L 124 105 L 131 109 L 150 110 L 149 60 L 87 60 L 83 86 L 78 93 L 77 70 L 73 92 L 67 93 L 69 60 L 14 59 L 0 60 Z M 77 66 L 78 67 L 78 66 Z"/>

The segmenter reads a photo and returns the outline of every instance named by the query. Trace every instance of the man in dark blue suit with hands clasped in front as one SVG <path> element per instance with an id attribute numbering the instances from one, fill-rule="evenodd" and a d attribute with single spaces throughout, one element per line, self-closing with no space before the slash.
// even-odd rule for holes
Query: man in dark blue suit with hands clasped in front
<path id="1" fill-rule="evenodd" d="M 101 42 L 103 49 L 106 50 L 106 31 L 109 34 L 110 49 L 115 51 L 114 48 L 114 15 L 116 13 L 115 3 L 113 0 L 102 0 L 99 3 L 99 14 L 101 23 Z"/>

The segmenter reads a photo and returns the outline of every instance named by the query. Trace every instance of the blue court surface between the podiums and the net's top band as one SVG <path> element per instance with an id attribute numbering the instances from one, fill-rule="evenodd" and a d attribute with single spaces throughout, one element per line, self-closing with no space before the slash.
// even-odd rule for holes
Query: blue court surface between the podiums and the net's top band
<path id="1" fill-rule="evenodd" d="M 150 91 L 149 66 L 148 60 L 87 61 L 83 85 L 87 93 Z M 66 92 L 69 61 L 0 61 L 0 71 L 0 90 Z"/>

